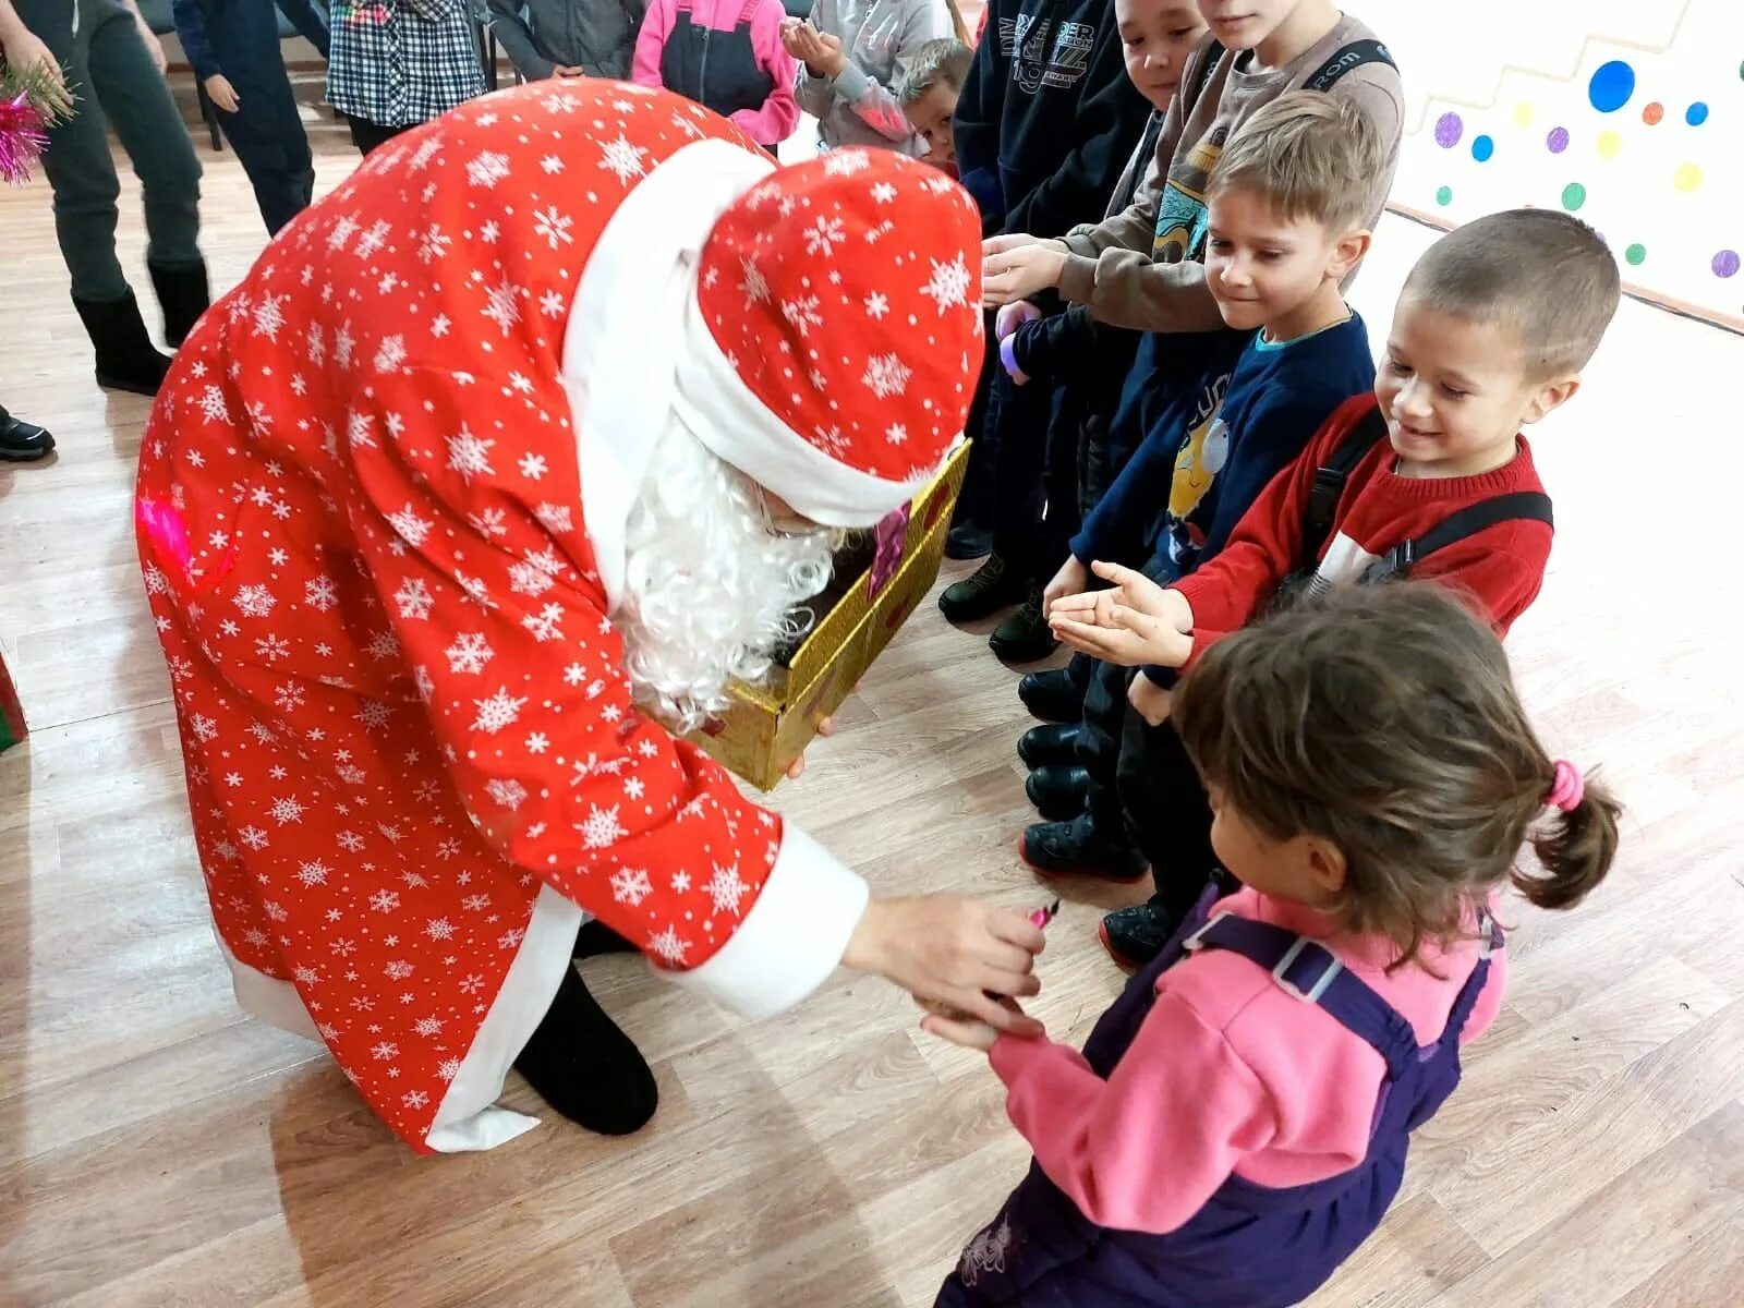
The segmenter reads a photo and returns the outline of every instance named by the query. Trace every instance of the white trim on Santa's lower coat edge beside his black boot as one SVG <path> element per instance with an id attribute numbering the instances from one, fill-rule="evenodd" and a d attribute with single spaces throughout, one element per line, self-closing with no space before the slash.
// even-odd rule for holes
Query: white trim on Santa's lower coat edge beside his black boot
<path id="1" fill-rule="evenodd" d="M 495 1107 L 509 1064 L 532 1039 L 534 1027 L 551 1008 L 556 987 L 570 968 L 581 909 L 551 886 L 539 888 L 527 935 L 502 978 L 502 989 L 485 1013 L 473 1048 L 448 1083 L 424 1142 L 439 1153 L 494 1149 L 532 1130 L 537 1118 Z"/>

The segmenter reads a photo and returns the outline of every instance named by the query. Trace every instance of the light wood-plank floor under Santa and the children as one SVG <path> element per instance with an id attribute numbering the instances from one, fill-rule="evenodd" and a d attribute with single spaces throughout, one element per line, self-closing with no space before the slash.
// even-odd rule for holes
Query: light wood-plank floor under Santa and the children
<path id="1" fill-rule="evenodd" d="M 225 288 L 262 232 L 234 159 L 202 159 Z M 349 166 L 323 153 L 323 188 Z M 877 982 L 739 1024 L 633 959 L 589 963 L 659 1076 L 652 1127 L 546 1121 L 431 1160 L 319 1050 L 237 1012 L 134 569 L 146 405 L 92 385 L 45 187 L 0 188 L 0 398 L 61 443 L 0 471 L 0 647 L 33 727 L 0 759 L 0 1303 L 930 1305 L 1025 1149 L 985 1064 Z M 1383 223 L 1355 296 L 1373 331 L 1427 241 Z M 1317 1305 L 1744 1298 L 1741 373 L 1739 338 L 1625 303 L 1542 431 L 1557 548 L 1512 651 L 1550 739 L 1629 800 L 1625 858 L 1584 910 L 1516 914 L 1500 1022 Z M 1013 680 L 924 609 L 780 806 L 879 891 L 1038 903 L 1012 849 Z M 1121 980 L 1073 896 L 1038 1005 L 1066 1038 Z M 537 1109 L 520 1083 L 509 1100 Z"/>

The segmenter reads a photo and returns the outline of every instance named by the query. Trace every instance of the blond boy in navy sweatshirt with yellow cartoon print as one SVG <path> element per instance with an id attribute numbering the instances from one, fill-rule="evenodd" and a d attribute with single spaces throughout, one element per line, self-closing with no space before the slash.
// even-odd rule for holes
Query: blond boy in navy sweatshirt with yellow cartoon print
<path id="1" fill-rule="evenodd" d="M 1287 92 L 1228 141 L 1207 181 L 1205 279 L 1224 324 L 1242 333 L 1231 337 L 1238 352 L 1174 391 L 1085 518 L 1050 602 L 1088 589 L 1095 560 L 1142 565 L 1163 584 L 1191 572 L 1327 415 L 1373 387 L 1369 338 L 1339 283 L 1369 248 L 1367 190 L 1383 159 L 1367 115 L 1315 91 Z M 1066 818 L 1024 832 L 1031 867 L 1113 881 L 1135 881 L 1160 858 L 1210 870 L 1209 844 L 1182 848 L 1205 844 L 1210 820 L 1188 811 L 1205 799 L 1184 783 L 1191 764 L 1168 726 L 1172 684 L 1170 670 L 1093 664 L 1076 762 L 1045 764 L 1029 780 L 1031 799 Z M 1036 727 L 1020 753 L 1045 755 L 1043 738 L 1059 731 Z"/>

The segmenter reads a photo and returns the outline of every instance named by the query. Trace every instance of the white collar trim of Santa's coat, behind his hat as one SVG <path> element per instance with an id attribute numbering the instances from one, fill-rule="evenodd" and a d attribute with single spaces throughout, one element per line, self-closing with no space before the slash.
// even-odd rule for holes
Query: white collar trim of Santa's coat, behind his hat
<path id="1" fill-rule="evenodd" d="M 623 596 L 630 508 L 671 420 L 703 244 L 722 211 L 773 171 L 766 155 L 727 141 L 684 146 L 624 197 L 582 267 L 563 333 L 562 382 L 581 516 L 607 610 Z"/>

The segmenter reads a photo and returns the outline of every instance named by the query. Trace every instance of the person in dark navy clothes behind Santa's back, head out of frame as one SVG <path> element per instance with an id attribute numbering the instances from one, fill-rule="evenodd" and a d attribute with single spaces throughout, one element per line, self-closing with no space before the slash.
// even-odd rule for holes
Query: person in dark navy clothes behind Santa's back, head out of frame
<path id="1" fill-rule="evenodd" d="M 328 28 L 309 0 L 279 0 L 291 26 L 328 52 Z M 272 0 L 171 0 L 176 35 L 194 75 L 218 106 L 218 126 L 235 150 L 255 204 L 277 232 L 309 208 L 316 164 L 279 51 Z"/>

